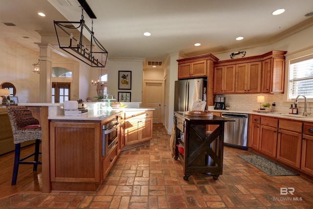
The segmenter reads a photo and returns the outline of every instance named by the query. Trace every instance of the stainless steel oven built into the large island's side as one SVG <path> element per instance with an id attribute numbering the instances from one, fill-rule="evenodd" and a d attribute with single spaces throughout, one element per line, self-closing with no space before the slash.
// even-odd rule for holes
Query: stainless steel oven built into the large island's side
<path id="1" fill-rule="evenodd" d="M 102 125 L 102 156 L 108 155 L 118 143 L 118 126 L 117 118 Z"/>

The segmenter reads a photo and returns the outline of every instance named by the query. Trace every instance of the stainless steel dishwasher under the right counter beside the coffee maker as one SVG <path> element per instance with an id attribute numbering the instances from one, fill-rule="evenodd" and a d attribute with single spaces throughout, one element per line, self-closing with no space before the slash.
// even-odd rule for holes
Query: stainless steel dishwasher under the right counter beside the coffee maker
<path id="1" fill-rule="evenodd" d="M 222 112 L 222 118 L 231 118 L 224 126 L 224 145 L 247 150 L 248 114 Z"/>

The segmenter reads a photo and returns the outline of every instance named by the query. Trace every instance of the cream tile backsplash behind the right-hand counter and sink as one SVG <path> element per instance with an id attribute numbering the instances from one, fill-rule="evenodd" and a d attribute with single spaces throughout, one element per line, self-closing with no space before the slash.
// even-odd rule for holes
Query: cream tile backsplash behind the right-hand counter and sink
<path id="1" fill-rule="evenodd" d="M 240 110 L 240 111 L 252 111 L 260 108 L 260 103 L 257 102 L 257 96 L 260 94 L 227 94 L 217 95 L 224 97 L 225 104 L 229 104 L 229 110 Z M 274 112 L 289 113 L 289 107 L 293 102 L 285 101 L 284 95 L 282 94 L 262 94 L 265 96 L 264 103 L 275 103 L 273 107 Z M 303 97 L 301 97 L 303 98 Z M 300 98 L 299 98 L 300 99 Z M 263 104 L 263 103 L 262 103 Z M 299 109 L 299 115 L 303 113 L 304 102 L 298 101 L 297 105 Z M 307 103 L 307 112 L 312 113 L 313 116 L 313 102 Z"/>

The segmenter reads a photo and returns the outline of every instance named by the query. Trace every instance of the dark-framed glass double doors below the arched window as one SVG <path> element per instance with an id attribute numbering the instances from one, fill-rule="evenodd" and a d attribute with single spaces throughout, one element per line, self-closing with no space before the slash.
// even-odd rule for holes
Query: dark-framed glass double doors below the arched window
<path id="1" fill-rule="evenodd" d="M 64 103 L 70 100 L 69 83 L 52 83 L 52 103 Z"/>

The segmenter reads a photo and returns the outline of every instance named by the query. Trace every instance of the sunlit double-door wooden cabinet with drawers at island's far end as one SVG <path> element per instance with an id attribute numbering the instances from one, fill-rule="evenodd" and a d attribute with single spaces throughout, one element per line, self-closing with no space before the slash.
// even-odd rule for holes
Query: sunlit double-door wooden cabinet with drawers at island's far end
<path id="1" fill-rule="evenodd" d="M 152 139 L 153 111 L 125 113 L 125 147 Z"/>

